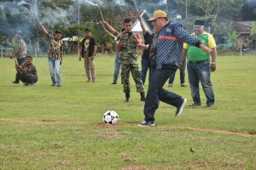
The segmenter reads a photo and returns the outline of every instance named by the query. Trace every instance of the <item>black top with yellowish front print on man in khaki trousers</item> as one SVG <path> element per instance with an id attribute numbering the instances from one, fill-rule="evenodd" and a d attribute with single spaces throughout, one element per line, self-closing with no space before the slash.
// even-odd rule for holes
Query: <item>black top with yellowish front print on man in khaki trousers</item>
<path id="1" fill-rule="evenodd" d="M 94 37 L 84 37 L 82 40 L 82 57 L 84 57 L 85 54 L 91 57 L 93 55 L 94 46 L 96 46 Z"/>

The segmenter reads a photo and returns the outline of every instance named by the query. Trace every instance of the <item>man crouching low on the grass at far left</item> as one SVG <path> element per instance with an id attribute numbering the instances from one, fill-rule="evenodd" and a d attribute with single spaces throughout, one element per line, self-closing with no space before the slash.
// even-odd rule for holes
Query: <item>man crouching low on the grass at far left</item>
<path id="1" fill-rule="evenodd" d="M 16 64 L 16 77 L 19 81 L 24 82 L 24 85 L 33 85 L 38 82 L 38 74 L 36 66 L 32 64 L 32 56 L 27 55 L 25 62 L 21 65 Z"/>

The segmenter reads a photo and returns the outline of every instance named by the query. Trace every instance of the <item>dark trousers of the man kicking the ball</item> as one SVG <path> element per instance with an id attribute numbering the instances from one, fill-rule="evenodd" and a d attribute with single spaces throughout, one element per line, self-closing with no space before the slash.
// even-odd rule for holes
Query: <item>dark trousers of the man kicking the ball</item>
<path id="1" fill-rule="evenodd" d="M 175 70 L 155 69 L 150 77 L 148 94 L 144 105 L 145 121 L 154 121 L 154 112 L 159 107 L 159 101 L 178 107 L 182 105 L 183 98 L 163 88 L 166 81 Z"/>

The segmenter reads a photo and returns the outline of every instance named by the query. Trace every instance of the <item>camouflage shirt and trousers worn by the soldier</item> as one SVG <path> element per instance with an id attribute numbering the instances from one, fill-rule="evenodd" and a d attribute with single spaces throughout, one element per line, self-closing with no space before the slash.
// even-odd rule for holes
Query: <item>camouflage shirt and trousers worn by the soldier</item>
<path id="1" fill-rule="evenodd" d="M 137 63 L 137 42 L 136 39 L 128 33 L 120 48 L 119 60 L 122 65 L 121 76 L 124 80 L 124 92 L 129 93 L 131 91 L 129 82 L 130 71 L 136 83 L 137 92 L 144 92 L 141 72 Z"/>

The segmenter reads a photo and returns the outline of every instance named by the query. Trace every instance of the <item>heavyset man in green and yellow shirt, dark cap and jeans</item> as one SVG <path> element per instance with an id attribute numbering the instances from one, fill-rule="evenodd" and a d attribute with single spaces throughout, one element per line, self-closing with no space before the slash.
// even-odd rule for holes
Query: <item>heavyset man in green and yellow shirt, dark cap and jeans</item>
<path id="1" fill-rule="evenodd" d="M 188 56 L 188 75 L 191 96 L 194 103 L 190 106 L 201 105 L 199 94 L 199 82 L 207 97 L 207 107 L 214 105 L 214 94 L 212 89 L 212 82 L 210 79 L 211 71 L 216 70 L 216 42 L 211 34 L 204 31 L 205 22 L 203 20 L 195 20 L 194 33 L 195 37 L 201 41 L 205 46 L 212 49 L 212 62 L 210 62 L 210 54 L 203 51 L 201 48 L 184 43 L 183 46 L 183 60 Z"/>

